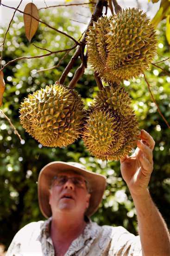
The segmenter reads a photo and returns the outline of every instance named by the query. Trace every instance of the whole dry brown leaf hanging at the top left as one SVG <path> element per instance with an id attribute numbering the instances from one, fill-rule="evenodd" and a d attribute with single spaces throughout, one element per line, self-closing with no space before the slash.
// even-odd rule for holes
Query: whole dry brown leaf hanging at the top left
<path id="1" fill-rule="evenodd" d="M 34 18 L 32 18 L 31 16 L 29 16 L 25 13 L 29 13 L 32 16 L 34 16 L 36 19 L 39 20 L 38 9 L 37 9 L 36 5 L 34 5 L 33 3 L 27 4 L 24 9 L 25 34 L 26 34 L 27 39 L 31 42 L 32 37 L 34 36 L 34 34 L 36 33 L 36 31 L 38 29 L 39 22 L 38 22 L 38 20 L 35 20 Z"/>

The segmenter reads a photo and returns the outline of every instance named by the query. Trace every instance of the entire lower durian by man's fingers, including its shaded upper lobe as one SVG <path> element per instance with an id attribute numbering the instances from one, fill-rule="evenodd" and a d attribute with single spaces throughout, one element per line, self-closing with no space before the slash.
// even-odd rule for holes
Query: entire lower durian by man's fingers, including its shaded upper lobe
<path id="1" fill-rule="evenodd" d="M 89 152 L 102 160 L 119 160 L 128 155 L 139 135 L 129 95 L 120 85 L 114 86 L 104 87 L 94 98 L 82 134 Z M 119 94 L 121 97 L 115 100 L 114 95 Z M 119 108 L 115 108 L 116 104 Z"/>

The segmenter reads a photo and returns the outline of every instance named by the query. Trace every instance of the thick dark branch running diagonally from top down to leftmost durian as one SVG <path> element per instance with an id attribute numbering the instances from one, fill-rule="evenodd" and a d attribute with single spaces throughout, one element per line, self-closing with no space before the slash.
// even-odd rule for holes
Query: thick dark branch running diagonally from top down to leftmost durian
<path id="1" fill-rule="evenodd" d="M 101 16 L 103 6 L 104 6 L 104 0 L 97 0 L 96 6 L 94 9 L 94 13 L 91 16 L 91 19 L 88 23 L 88 27 L 87 27 L 87 29 L 84 33 L 84 36 L 81 40 L 81 45 L 77 47 L 75 54 L 72 56 L 71 60 L 69 61 L 67 67 L 64 69 L 63 74 L 61 75 L 61 77 L 59 79 L 59 82 L 61 84 L 63 84 L 63 82 L 65 81 L 67 74 L 69 73 L 71 68 L 74 66 L 77 58 L 80 56 L 80 54 L 82 52 L 84 52 L 84 47 L 86 45 L 87 31 L 88 31 L 89 27 L 93 25 L 93 21 L 97 21 L 97 19 Z"/>

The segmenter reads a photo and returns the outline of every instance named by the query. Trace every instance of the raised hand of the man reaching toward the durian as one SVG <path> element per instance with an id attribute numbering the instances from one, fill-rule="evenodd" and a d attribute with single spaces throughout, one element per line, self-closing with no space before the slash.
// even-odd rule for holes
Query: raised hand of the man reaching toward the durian
<path id="1" fill-rule="evenodd" d="M 148 187 L 153 170 L 152 151 L 155 141 L 141 130 L 140 141 L 133 155 L 120 159 L 120 170 L 131 194 L 142 195 Z"/>

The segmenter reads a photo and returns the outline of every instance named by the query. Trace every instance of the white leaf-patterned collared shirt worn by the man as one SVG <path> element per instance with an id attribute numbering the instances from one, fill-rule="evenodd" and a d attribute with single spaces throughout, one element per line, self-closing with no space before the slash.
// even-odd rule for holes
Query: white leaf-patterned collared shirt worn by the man
<path id="1" fill-rule="evenodd" d="M 50 222 L 51 218 L 31 222 L 20 229 L 6 256 L 55 256 Z M 142 256 L 140 237 L 123 227 L 99 226 L 89 221 L 65 256 Z"/>

